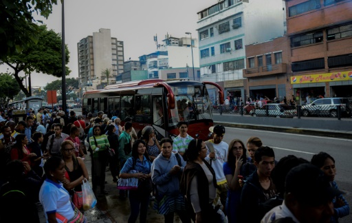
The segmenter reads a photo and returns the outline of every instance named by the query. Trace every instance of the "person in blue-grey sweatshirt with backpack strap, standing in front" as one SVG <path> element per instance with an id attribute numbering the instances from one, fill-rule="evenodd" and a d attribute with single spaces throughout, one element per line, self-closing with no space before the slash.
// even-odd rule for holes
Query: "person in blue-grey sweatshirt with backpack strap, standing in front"
<path id="1" fill-rule="evenodd" d="M 157 187 L 157 200 L 154 208 L 159 214 L 164 215 L 165 222 L 173 222 L 175 212 L 179 215 L 181 222 L 190 222 L 184 195 L 179 191 L 179 179 L 186 162 L 178 153 L 173 153 L 173 140 L 163 138 L 160 144 L 162 153 L 155 158 L 151 167 L 151 178 Z"/>

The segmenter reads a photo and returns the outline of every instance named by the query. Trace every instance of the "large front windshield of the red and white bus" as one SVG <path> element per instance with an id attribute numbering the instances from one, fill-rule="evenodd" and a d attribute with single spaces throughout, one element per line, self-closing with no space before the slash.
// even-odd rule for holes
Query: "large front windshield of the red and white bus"
<path id="1" fill-rule="evenodd" d="M 176 106 L 169 125 L 175 125 L 179 121 L 192 122 L 212 118 L 206 87 L 203 85 L 173 87 L 173 92 Z"/>

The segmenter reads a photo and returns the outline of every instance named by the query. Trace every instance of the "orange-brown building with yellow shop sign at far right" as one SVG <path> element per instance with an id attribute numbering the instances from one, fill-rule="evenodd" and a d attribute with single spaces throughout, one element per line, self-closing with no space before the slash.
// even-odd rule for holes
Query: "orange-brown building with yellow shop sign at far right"
<path id="1" fill-rule="evenodd" d="M 352 96 L 352 1 L 286 0 L 292 94 Z"/>

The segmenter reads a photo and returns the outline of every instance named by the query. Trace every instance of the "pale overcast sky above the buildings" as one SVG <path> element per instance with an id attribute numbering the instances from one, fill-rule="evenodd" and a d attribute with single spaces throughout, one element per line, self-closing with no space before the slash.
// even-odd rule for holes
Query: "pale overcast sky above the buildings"
<path id="1" fill-rule="evenodd" d="M 197 12 L 215 3 L 217 0 L 65 1 L 65 43 L 69 47 L 68 66 L 72 70 L 68 78 L 78 77 L 78 41 L 99 32 L 100 28 L 110 29 L 112 37 L 124 41 L 125 61 L 130 57 L 138 60 L 138 56 L 156 51 L 155 34 L 159 43 L 166 33 L 182 37 L 186 36 L 185 32 L 192 32 L 192 37 L 197 38 Z M 47 28 L 61 32 L 61 3 L 54 6 L 44 23 Z M 6 68 L 1 66 L 0 72 L 5 72 Z M 54 80 L 53 76 L 33 74 L 32 86 L 45 86 Z"/>

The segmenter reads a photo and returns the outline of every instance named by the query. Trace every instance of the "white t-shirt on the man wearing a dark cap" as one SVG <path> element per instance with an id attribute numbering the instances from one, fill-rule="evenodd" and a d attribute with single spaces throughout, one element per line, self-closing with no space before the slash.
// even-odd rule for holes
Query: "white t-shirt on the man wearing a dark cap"
<path id="1" fill-rule="evenodd" d="M 211 140 L 212 146 L 215 149 L 215 158 L 212 160 L 212 169 L 215 171 L 215 178 L 217 184 L 224 184 L 226 182 L 225 174 L 223 173 L 223 163 L 228 161 L 228 144 L 221 141 L 219 144 L 214 144 Z M 205 160 L 210 163 L 209 153 L 210 149 L 207 146 L 207 156 Z"/>

